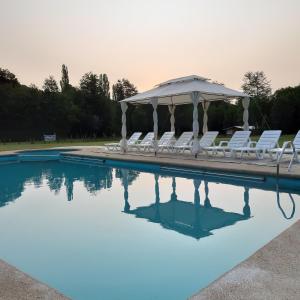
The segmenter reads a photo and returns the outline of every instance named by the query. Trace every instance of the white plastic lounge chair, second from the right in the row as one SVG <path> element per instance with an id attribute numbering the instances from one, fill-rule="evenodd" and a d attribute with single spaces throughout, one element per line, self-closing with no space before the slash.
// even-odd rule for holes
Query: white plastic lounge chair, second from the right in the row
<path id="1" fill-rule="evenodd" d="M 281 130 L 265 130 L 257 142 L 249 142 L 247 147 L 235 149 L 235 152 L 241 152 L 241 158 L 245 152 L 254 152 L 258 159 L 265 157 L 268 153 L 272 159 L 272 150 L 279 147 L 278 140 L 281 135 Z"/>

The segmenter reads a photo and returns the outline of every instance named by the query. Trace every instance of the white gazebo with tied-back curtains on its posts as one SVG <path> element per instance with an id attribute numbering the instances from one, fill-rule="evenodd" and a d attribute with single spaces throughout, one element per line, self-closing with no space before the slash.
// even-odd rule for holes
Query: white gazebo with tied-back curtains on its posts
<path id="1" fill-rule="evenodd" d="M 154 146 L 157 147 L 157 106 L 168 105 L 170 112 L 171 131 L 175 131 L 175 108 L 177 105 L 193 104 L 193 153 L 196 155 L 199 151 L 198 134 L 198 104 L 201 102 L 203 108 L 203 129 L 205 133 L 207 128 L 207 110 L 212 101 L 228 101 L 232 99 L 242 99 L 243 113 L 243 128 L 249 129 L 248 124 L 248 107 L 250 96 L 225 87 L 224 85 L 210 82 L 208 78 L 191 75 L 165 81 L 156 85 L 153 89 L 139 93 L 130 98 L 120 101 L 122 109 L 122 142 L 121 148 L 123 152 L 127 151 L 126 141 L 126 110 L 127 104 L 151 104 L 153 107 L 153 132 Z"/>

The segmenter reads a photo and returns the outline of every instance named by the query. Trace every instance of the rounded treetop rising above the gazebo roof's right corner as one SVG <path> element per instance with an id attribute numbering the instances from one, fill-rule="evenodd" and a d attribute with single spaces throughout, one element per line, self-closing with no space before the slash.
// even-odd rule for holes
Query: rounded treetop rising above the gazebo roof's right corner
<path id="1" fill-rule="evenodd" d="M 262 71 L 247 72 L 243 78 L 243 91 L 252 96 L 259 98 L 269 98 L 272 93 L 270 81 Z"/>

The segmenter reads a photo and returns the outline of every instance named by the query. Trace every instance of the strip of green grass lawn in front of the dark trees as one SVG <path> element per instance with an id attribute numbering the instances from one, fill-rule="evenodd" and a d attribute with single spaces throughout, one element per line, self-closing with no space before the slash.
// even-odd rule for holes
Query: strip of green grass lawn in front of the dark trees
<path id="1" fill-rule="evenodd" d="M 217 143 L 221 140 L 229 140 L 228 136 L 220 136 L 217 138 Z M 259 136 L 251 136 L 252 141 L 257 141 Z M 285 141 L 293 140 L 294 135 L 282 135 L 279 140 L 279 144 L 282 145 Z M 0 151 L 10 151 L 10 150 L 26 150 L 26 149 L 47 149 L 52 147 L 65 147 L 65 146 L 102 146 L 105 143 L 119 141 L 120 138 L 110 139 L 69 139 L 69 140 L 60 140 L 56 142 L 43 142 L 43 141 L 34 141 L 34 142 L 9 142 L 9 143 L 0 143 Z"/>

